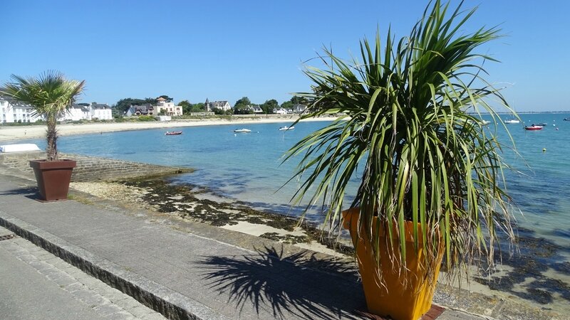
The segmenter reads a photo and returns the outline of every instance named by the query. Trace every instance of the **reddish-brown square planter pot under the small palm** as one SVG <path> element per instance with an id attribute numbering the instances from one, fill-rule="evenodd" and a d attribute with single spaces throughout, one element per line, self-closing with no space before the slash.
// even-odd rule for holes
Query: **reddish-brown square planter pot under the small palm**
<path id="1" fill-rule="evenodd" d="M 75 160 L 30 160 L 43 201 L 66 200 Z"/>

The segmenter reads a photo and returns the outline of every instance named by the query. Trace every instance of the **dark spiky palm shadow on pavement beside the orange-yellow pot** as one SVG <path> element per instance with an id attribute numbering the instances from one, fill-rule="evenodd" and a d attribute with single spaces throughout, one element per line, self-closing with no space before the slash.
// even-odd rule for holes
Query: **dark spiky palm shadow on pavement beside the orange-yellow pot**
<path id="1" fill-rule="evenodd" d="M 257 250 L 257 255 L 206 257 L 200 262 L 209 285 L 229 293 L 239 311 L 252 303 L 270 306 L 274 318 L 359 319 L 351 311 L 366 309 L 353 264 L 316 253 L 299 252 L 287 257 L 283 249 Z"/>

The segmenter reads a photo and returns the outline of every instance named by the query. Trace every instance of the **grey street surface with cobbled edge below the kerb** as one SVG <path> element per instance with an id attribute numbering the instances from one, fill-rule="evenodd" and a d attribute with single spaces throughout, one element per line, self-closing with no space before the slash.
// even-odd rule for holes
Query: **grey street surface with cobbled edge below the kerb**
<path id="1" fill-rule="evenodd" d="M 0 261 L 0 319 L 165 319 L 5 228 Z"/>

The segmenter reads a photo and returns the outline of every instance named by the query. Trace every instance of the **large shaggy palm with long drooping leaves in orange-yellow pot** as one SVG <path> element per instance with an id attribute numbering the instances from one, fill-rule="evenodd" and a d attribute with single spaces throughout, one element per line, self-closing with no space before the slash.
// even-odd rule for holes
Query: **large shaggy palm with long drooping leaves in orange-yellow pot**
<path id="1" fill-rule="evenodd" d="M 310 100 L 301 119 L 343 115 L 285 154 L 301 159 L 292 201 L 309 198 L 305 213 L 322 201 L 323 225 L 351 231 L 368 310 L 380 316 L 418 319 L 442 261 L 450 277 L 480 258 L 493 265 L 499 234 L 513 237 L 502 144 L 480 119 L 498 118 L 491 100 L 512 111 L 482 77 L 494 59 L 476 52 L 499 30 L 466 32 L 475 9 L 460 7 L 433 1 L 409 36 L 361 41 L 361 61 L 323 49 L 324 68 L 304 71 L 311 92 L 296 93 Z"/>

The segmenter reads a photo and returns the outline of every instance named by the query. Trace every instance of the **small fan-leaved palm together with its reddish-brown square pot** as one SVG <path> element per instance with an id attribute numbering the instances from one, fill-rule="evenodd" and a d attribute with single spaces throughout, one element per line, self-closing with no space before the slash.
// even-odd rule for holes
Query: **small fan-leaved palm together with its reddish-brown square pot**
<path id="1" fill-rule="evenodd" d="M 47 124 L 46 159 L 30 161 L 40 197 L 43 201 L 64 200 L 76 161 L 58 159 L 56 124 L 81 94 L 85 81 L 67 80 L 63 74 L 51 70 L 38 78 L 18 75 L 11 78 L 13 82 L 6 83 L 0 93 L 30 105 L 35 115 L 41 116 Z"/>

